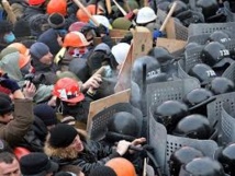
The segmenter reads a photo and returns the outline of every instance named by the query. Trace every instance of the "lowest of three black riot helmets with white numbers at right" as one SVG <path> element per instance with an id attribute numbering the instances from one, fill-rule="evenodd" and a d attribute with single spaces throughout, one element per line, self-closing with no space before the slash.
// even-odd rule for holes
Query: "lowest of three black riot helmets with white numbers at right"
<path id="1" fill-rule="evenodd" d="M 205 63 L 194 64 L 188 72 L 189 75 L 197 78 L 201 85 L 206 85 L 216 77 L 216 73 L 212 68 Z"/>

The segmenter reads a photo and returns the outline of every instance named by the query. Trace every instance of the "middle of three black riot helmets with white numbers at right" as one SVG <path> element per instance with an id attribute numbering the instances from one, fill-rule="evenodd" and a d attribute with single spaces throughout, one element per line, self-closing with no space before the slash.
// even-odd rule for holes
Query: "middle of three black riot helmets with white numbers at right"
<path id="1" fill-rule="evenodd" d="M 222 68 L 226 63 L 231 64 L 234 60 L 231 59 L 230 50 L 219 42 L 211 42 L 201 51 L 202 62 L 212 68 Z"/>

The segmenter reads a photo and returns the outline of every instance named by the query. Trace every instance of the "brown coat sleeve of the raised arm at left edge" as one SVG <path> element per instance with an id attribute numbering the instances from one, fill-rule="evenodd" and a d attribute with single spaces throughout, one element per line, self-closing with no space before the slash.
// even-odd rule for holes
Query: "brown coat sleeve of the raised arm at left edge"
<path id="1" fill-rule="evenodd" d="M 1 107 L 0 107 L 1 108 Z M 0 139 L 12 148 L 18 146 L 33 122 L 33 103 L 29 99 L 14 101 L 14 119 L 8 124 L 0 122 Z"/>

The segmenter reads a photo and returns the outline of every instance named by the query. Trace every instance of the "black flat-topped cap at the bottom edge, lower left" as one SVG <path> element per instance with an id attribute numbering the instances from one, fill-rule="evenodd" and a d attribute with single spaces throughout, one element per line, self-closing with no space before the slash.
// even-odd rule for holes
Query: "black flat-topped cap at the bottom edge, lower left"
<path id="1" fill-rule="evenodd" d="M 52 162 L 45 153 L 34 152 L 20 159 L 23 176 L 45 176 L 58 169 L 58 164 Z"/>

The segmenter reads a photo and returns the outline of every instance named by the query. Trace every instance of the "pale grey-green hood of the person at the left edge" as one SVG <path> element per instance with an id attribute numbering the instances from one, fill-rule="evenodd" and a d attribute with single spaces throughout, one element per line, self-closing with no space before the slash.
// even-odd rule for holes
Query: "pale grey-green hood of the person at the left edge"
<path id="1" fill-rule="evenodd" d="M 23 80 L 23 75 L 19 68 L 19 58 L 20 58 L 20 52 L 16 51 L 16 52 L 5 55 L 0 60 L 0 69 L 3 70 L 5 73 L 8 73 L 9 78 L 15 81 Z"/>

